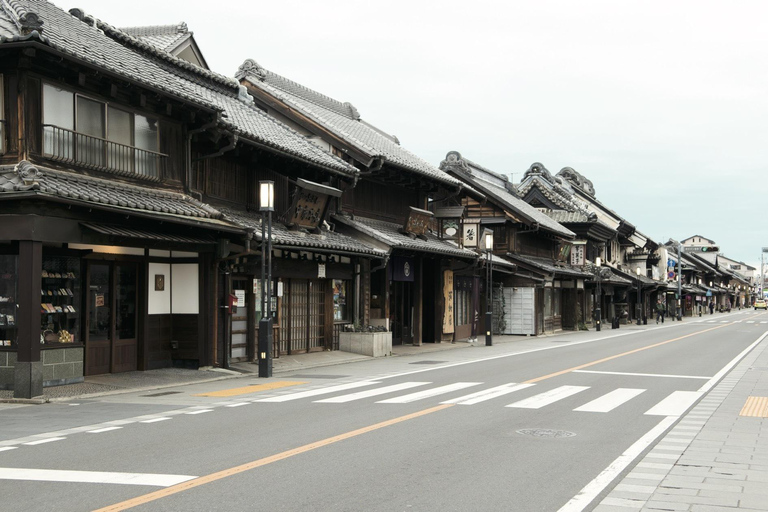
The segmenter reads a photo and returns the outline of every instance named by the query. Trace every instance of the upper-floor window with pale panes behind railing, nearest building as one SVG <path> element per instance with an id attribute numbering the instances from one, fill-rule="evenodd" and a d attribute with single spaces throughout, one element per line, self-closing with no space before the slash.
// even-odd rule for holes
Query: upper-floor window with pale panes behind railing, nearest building
<path id="1" fill-rule="evenodd" d="M 158 178 L 158 119 L 43 84 L 43 154 L 57 161 Z"/>

